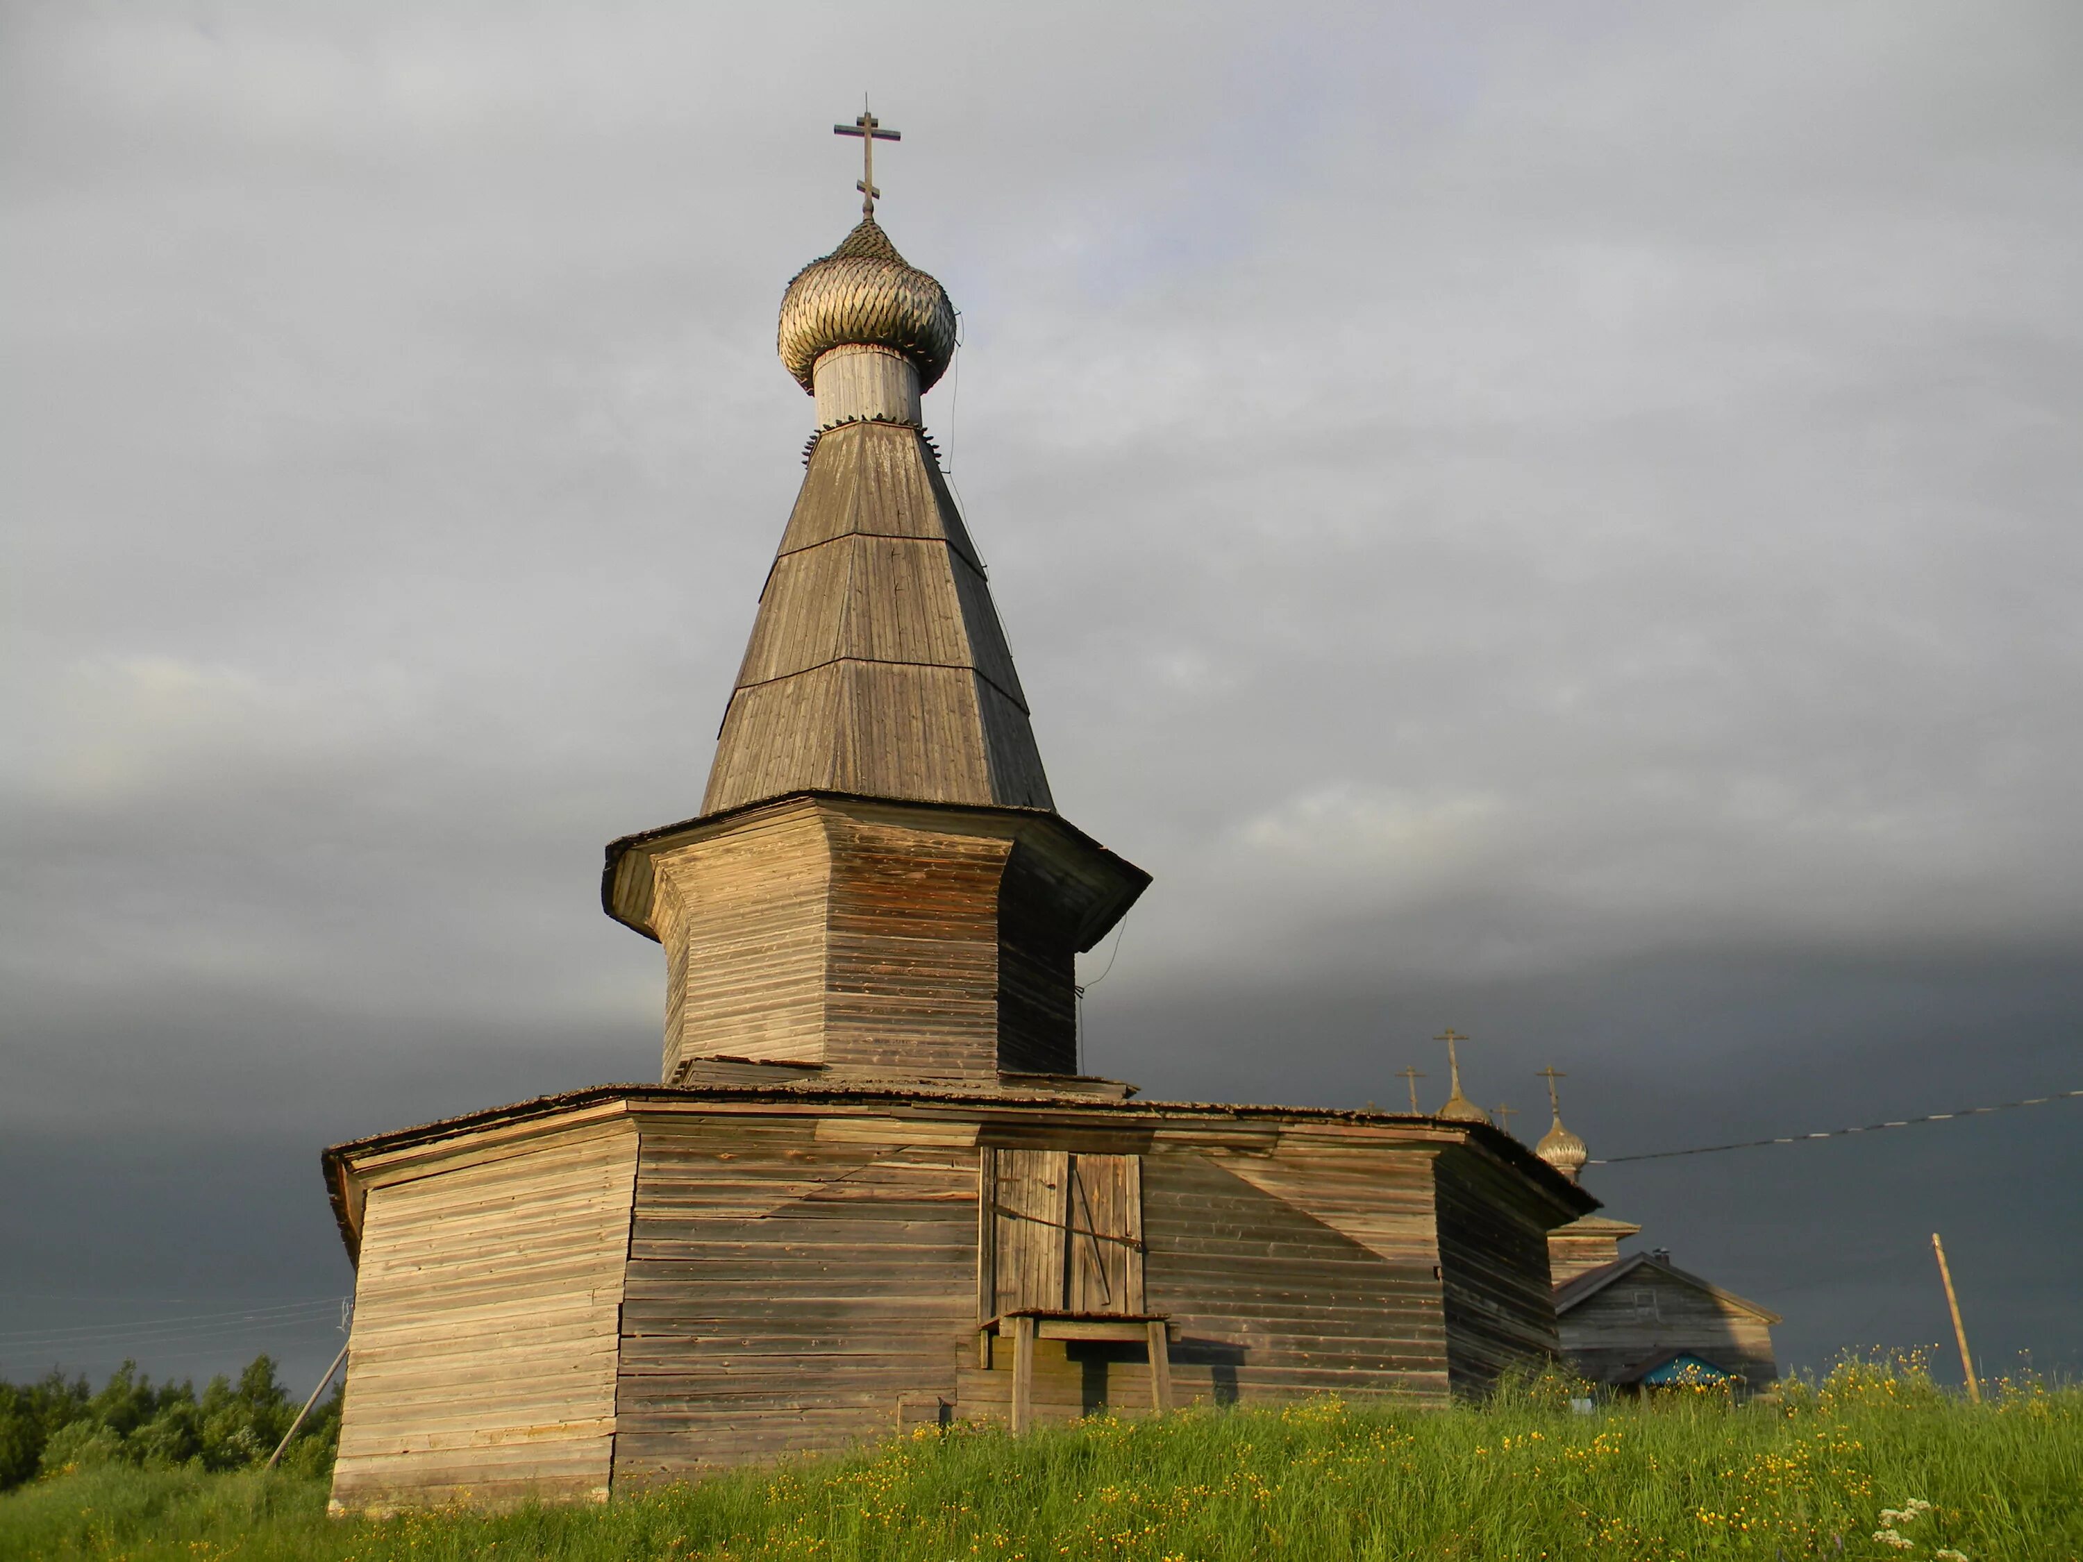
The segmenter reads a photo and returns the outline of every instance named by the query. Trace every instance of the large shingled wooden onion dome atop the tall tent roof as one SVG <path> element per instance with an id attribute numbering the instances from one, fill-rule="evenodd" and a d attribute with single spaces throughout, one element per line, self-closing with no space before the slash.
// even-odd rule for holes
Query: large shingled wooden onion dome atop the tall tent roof
<path id="1" fill-rule="evenodd" d="M 887 348 L 931 389 L 954 358 L 954 304 L 933 277 L 906 264 L 873 217 L 812 260 L 781 296 L 781 364 L 814 394 L 817 360 L 833 348 Z"/>

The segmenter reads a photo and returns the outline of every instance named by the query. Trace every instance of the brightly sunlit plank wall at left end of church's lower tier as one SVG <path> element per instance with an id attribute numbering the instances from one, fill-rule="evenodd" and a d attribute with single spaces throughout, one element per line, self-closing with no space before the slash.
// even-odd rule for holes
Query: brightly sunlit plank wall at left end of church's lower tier
<path id="1" fill-rule="evenodd" d="M 623 1120 L 367 1189 L 335 1510 L 608 1495 L 635 1162 Z"/>

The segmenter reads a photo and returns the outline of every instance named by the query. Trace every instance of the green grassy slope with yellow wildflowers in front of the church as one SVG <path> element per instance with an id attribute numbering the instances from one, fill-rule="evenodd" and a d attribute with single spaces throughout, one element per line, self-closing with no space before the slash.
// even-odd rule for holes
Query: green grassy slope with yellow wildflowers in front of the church
<path id="1" fill-rule="evenodd" d="M 1848 1366 L 1752 1406 L 1583 1416 L 1535 1387 L 1448 1412 L 952 1429 L 604 1508 L 381 1522 L 327 1520 L 310 1477 L 115 1464 L 0 1497 L 0 1556 L 2083 1560 L 2083 1391 L 1973 1408 L 1921 1372 Z"/>

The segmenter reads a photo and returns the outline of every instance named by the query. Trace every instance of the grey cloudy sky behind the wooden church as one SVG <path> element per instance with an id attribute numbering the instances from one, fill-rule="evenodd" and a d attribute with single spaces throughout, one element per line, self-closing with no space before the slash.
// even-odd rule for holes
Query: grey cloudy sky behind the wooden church
<path id="1" fill-rule="evenodd" d="M 6 4 L 0 1372 L 340 1295 L 317 1150 L 656 1073 L 856 215 L 1152 1093 L 1593 1154 L 2083 1087 L 2073 4 Z M 1096 975 L 1110 950 L 1100 950 Z M 2083 1368 L 2083 1104 L 1614 1166 L 1781 1352 Z M 290 1314 L 285 1314 L 290 1316 Z M 75 1335 L 52 1331 L 77 1329 Z"/>

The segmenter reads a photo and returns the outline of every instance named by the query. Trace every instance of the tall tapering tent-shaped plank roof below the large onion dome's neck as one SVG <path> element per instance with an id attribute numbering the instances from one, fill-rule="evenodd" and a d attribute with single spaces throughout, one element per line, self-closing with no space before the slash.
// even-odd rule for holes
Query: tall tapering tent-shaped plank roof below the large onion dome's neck
<path id="1" fill-rule="evenodd" d="M 794 791 L 1052 808 L 983 564 L 904 423 L 819 435 L 702 812 Z"/>

